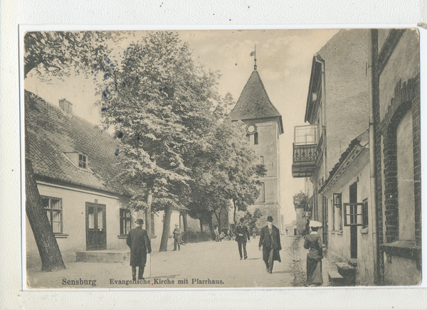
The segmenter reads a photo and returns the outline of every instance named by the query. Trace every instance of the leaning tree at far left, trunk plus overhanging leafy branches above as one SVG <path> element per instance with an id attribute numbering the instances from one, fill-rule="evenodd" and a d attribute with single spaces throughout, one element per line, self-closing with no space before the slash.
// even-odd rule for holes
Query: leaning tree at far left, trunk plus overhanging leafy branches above
<path id="1" fill-rule="evenodd" d="M 41 80 L 69 75 L 70 70 L 93 68 L 93 60 L 107 53 L 107 41 L 118 38 L 117 33 L 105 32 L 27 32 L 24 35 L 24 78 L 34 73 Z M 98 68 L 102 63 L 96 62 Z M 25 131 L 26 131 L 25 126 Z M 27 139 L 28 134 L 25 134 Z M 53 235 L 46 211 L 41 204 L 36 178 L 33 174 L 31 150 L 25 141 L 26 215 L 41 257 L 41 270 L 65 269 L 58 242 Z"/>

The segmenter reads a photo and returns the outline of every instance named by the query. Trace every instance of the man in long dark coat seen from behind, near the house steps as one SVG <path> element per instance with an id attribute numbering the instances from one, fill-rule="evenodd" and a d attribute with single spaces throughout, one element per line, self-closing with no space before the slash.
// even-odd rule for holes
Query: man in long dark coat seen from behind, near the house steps
<path id="1" fill-rule="evenodd" d="M 137 278 L 137 267 L 138 270 L 138 279 L 144 279 L 144 267 L 147 262 L 147 252 L 151 253 L 151 242 L 147 231 L 142 229 L 142 224 L 144 220 L 138 218 L 137 228 L 130 230 L 129 235 L 127 235 L 126 243 L 130 247 L 130 265 L 132 266 L 132 280 L 136 281 Z"/>

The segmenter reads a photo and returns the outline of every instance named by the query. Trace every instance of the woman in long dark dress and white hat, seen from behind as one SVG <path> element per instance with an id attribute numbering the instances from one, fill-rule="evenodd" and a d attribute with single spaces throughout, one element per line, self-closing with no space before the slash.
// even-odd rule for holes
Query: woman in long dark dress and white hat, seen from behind
<path id="1" fill-rule="evenodd" d="M 312 227 L 310 235 L 305 237 L 304 247 L 307 254 L 307 287 L 318 287 L 323 284 L 322 278 L 322 238 L 317 235 L 318 227 Z"/>

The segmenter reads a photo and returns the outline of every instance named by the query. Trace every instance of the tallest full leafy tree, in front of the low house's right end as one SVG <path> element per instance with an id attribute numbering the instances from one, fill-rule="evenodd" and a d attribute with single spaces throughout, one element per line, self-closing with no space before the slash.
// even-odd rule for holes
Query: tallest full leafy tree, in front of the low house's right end
<path id="1" fill-rule="evenodd" d="M 176 33 L 165 31 L 131 44 L 119 61 L 102 63 L 102 118 L 122 141 L 124 170 L 113 181 L 144 188 L 132 197 L 132 208 L 164 210 L 159 250 L 166 251 L 172 208 L 189 205 L 186 158 L 203 148 L 201 137 L 215 122 L 216 75 L 192 60 Z"/>

